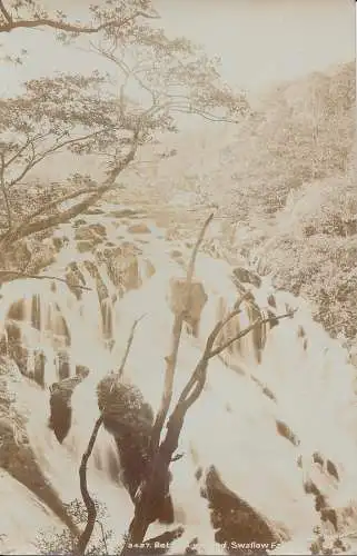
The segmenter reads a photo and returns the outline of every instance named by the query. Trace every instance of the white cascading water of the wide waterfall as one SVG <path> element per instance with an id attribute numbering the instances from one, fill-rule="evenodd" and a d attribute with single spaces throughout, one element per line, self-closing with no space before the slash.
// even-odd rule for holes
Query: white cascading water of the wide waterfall
<path id="1" fill-rule="evenodd" d="M 95 222 L 96 219 L 98 217 L 86 217 L 87 221 Z M 150 235 L 133 237 L 127 232 L 126 226 L 118 227 L 109 218 L 100 217 L 100 222 L 106 226 L 108 239 L 113 244 L 128 240 L 137 242 L 142 250 L 142 286 L 128 290 L 116 301 L 112 298 L 118 294 L 117 288 L 111 284 L 105 266 L 98 267 L 109 292 L 105 301 L 105 329 L 96 280 L 82 265 L 83 260 L 92 257 L 77 251 L 70 226 L 57 231 L 58 236 L 66 235 L 69 241 L 56 264 L 48 269 L 48 275 L 63 277 L 67 265 L 76 260 L 90 291 L 83 290 L 81 299 L 77 300 L 65 284 L 56 281 L 53 291 L 52 280 L 31 279 L 16 280 L 1 288 L 0 324 L 6 324 L 13 302 L 23 299 L 22 342 L 30 348 L 30 354 L 31 349 L 36 350 L 40 346 L 47 356 L 46 389 L 24 379 L 17 391 L 18 406 L 29 416 L 28 435 L 37 459 L 65 502 L 80 498 L 78 467 L 98 417 L 98 380 L 109 370 L 118 368 L 132 322 L 142 315 L 145 318 L 137 328 L 125 377 L 139 386 L 153 410 L 159 406 L 163 358 L 169 354 L 173 320 L 168 306 L 168 286 L 170 278 L 182 276 L 182 269 L 172 260 L 170 251 L 178 248 L 186 255 L 182 246 L 168 244 L 162 231 L 153 226 Z M 119 240 L 118 236 L 123 239 Z M 140 239 L 147 242 L 140 242 Z M 147 276 L 148 261 L 156 269 L 151 278 Z M 237 289 L 230 280 L 230 274 L 231 268 L 224 261 L 204 255 L 198 257 L 196 276 L 205 286 L 208 301 L 201 315 L 199 337 L 184 334 L 175 398 L 195 368 L 207 335 L 217 319 L 237 300 Z M 268 279 L 259 290 L 254 290 L 256 301 L 262 309 L 267 308 L 267 297 L 271 291 Z M 34 296 L 39 299 L 40 330 L 30 326 L 30 308 Z M 170 488 L 176 520 L 186 527 L 184 537 L 172 546 L 176 553 L 196 536 L 206 553 L 222 553 L 222 548 L 214 540 L 207 503 L 199 496 L 199 485 L 195 479 L 199 466 L 207 469 L 215 465 L 231 490 L 304 546 L 313 537 L 313 527 L 321 525 L 314 508 L 314 498 L 304 490 L 307 477 L 314 479 L 327 496 L 329 505 L 338 512 L 354 507 L 357 500 L 355 369 L 347 364 L 347 354 L 339 344 L 313 321 L 309 308 L 300 299 L 281 291 L 275 296 L 277 312 L 285 312 L 286 304 L 298 311 L 294 318 L 266 330 L 260 365 L 257 363 L 252 336 L 249 335 L 236 346 L 232 354 L 227 354 L 225 360 L 232 368 L 219 358 L 211 360 L 207 387 L 187 415 L 179 447 L 185 457 L 172 464 Z M 63 338 L 58 335 L 63 330 L 56 318 L 58 312 L 70 332 L 70 347 L 63 347 Z M 44 315 L 47 318 L 43 318 Z M 251 311 L 246 306 L 235 326 L 239 325 L 242 329 L 251 322 Z M 106 342 L 108 321 L 111 322 L 113 339 L 111 350 Z M 301 326 L 304 338 L 298 334 Z M 304 347 L 306 339 L 307 346 Z M 71 374 L 75 374 L 76 365 L 85 365 L 90 369 L 90 375 L 73 393 L 72 425 L 62 445 L 58 444 L 47 426 L 48 387 L 58 379 L 54 354 L 59 347 L 69 354 Z M 28 369 L 30 359 L 31 356 Z M 254 378 L 258 378 L 274 393 L 277 403 L 262 394 Z M 278 435 L 276 419 L 291 428 L 300 440 L 299 446 L 292 446 Z M 325 459 L 334 461 L 339 481 L 313 464 L 315 451 L 320 451 Z M 118 543 L 132 517 L 132 504 L 127 492 L 110 478 L 110 455 L 111 458 L 117 457 L 115 443 L 101 429 L 90 460 L 88 483 L 96 497 L 107 505 L 109 517 L 106 526 L 115 530 Z M 297 465 L 299 456 L 303 456 L 303 469 Z M 353 522 L 354 516 L 345 527 L 354 527 Z M 148 535 L 155 536 L 162 527 L 152 525 Z M 4 533 L 11 536 L 11 530 L 8 527 Z M 19 539 L 19 544 L 22 545 L 24 539 L 26 536 L 21 543 Z"/>

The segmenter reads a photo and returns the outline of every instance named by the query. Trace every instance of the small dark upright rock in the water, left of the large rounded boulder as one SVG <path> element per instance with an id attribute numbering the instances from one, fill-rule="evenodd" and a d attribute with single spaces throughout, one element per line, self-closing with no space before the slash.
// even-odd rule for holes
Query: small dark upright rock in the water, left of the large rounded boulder
<path id="1" fill-rule="evenodd" d="M 71 397 L 75 388 L 83 380 L 78 375 L 52 384 L 50 388 L 50 418 L 49 428 L 53 430 L 56 438 L 61 444 L 71 427 Z"/>

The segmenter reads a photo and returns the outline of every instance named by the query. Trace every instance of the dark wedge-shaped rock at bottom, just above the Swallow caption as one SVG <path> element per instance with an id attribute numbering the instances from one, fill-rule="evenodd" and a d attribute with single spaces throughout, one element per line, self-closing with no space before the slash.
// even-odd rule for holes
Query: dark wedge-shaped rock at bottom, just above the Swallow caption
<path id="1" fill-rule="evenodd" d="M 217 529 L 217 543 L 255 542 L 264 544 L 277 542 L 277 534 L 268 519 L 246 500 L 229 490 L 215 467 L 210 467 L 207 473 L 206 496 L 211 509 L 212 526 Z M 247 555 L 247 549 L 240 552 L 237 548 L 229 552 Z M 261 554 L 258 548 L 254 552 Z"/>

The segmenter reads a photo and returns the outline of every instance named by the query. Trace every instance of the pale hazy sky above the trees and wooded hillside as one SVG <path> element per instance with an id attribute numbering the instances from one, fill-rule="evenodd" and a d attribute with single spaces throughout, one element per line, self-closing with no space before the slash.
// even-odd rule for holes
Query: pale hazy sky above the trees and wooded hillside
<path id="1" fill-rule="evenodd" d="M 58 6 L 69 6 L 73 13 L 88 2 L 61 0 Z M 156 0 L 156 6 L 169 34 L 185 34 L 204 44 L 209 54 L 220 56 L 225 79 L 247 90 L 355 58 L 353 0 Z M 17 30 L 1 37 L 1 42 L 9 52 L 20 48 L 30 52 L 24 66 L 0 68 L 4 95 L 29 78 L 56 71 L 90 72 L 102 63 L 79 50 L 63 52 L 47 31 Z"/>

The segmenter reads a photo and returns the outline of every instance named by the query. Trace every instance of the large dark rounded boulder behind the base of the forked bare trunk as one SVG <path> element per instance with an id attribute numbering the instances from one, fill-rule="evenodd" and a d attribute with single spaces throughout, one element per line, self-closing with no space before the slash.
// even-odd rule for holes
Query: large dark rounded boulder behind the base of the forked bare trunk
<path id="1" fill-rule="evenodd" d="M 146 404 L 136 386 L 118 383 L 115 375 L 102 379 L 98 385 L 98 405 L 103 414 L 103 424 L 116 439 L 122 481 L 131 499 L 145 478 L 150 463 L 149 441 L 153 425 L 153 413 Z M 170 476 L 162 478 L 162 484 L 170 481 Z M 167 492 L 158 495 L 155 500 L 152 520 L 173 522 L 173 508 Z"/>

